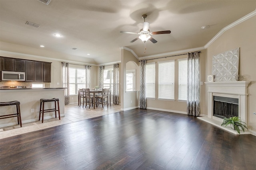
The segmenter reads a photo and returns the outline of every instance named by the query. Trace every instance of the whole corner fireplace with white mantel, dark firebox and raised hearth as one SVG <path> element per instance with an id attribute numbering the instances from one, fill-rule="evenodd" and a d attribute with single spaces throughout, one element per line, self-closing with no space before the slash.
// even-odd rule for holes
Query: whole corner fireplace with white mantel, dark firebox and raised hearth
<path id="1" fill-rule="evenodd" d="M 224 117 L 238 116 L 247 123 L 247 87 L 250 81 L 205 82 L 208 86 L 207 117 L 198 117 L 234 134 L 236 131 L 221 126 Z M 250 132 L 246 132 L 250 134 Z M 241 133 L 241 134 L 246 134 Z"/>

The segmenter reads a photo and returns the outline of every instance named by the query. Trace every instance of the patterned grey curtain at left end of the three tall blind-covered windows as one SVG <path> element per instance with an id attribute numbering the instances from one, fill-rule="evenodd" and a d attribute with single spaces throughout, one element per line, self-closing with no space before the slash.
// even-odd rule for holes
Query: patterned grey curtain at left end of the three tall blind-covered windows
<path id="1" fill-rule="evenodd" d="M 140 108 L 146 109 L 146 60 L 140 61 Z"/>

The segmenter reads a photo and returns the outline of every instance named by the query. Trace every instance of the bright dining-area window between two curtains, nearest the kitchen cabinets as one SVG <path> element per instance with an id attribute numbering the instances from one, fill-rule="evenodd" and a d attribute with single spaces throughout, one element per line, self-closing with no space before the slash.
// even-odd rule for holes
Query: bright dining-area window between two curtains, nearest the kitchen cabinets
<path id="1" fill-rule="evenodd" d="M 69 68 L 69 94 L 78 94 L 79 88 L 85 88 L 85 69 Z"/>

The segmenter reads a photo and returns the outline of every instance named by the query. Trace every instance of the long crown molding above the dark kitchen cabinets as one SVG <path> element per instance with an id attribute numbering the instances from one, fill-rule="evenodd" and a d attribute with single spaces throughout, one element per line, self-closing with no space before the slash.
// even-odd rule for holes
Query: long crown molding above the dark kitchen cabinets
<path id="1" fill-rule="evenodd" d="M 20 55 L 20 56 L 26 56 L 26 57 L 34 57 L 38 59 L 46 59 L 46 60 L 55 60 L 55 61 L 61 61 L 61 62 L 68 62 L 70 64 L 86 64 L 86 65 L 92 65 L 92 66 L 98 66 L 97 64 L 90 64 L 90 63 L 83 63 L 83 62 L 78 62 L 78 61 L 70 61 L 70 60 L 62 60 L 62 59 L 56 59 L 56 58 L 50 58 L 50 57 L 43 57 L 39 55 L 30 55 L 30 54 L 24 54 L 24 53 L 16 53 L 16 52 L 11 52 L 11 51 L 3 51 L 0 50 L 0 54 L 12 54 L 12 55 Z"/>

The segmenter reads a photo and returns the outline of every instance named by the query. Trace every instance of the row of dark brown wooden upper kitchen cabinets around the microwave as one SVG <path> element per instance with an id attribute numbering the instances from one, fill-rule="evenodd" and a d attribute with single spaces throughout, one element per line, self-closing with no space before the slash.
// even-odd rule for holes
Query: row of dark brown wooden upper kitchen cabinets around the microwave
<path id="1" fill-rule="evenodd" d="M 1 71 L 25 72 L 25 82 L 51 82 L 52 63 L 0 57 Z"/>

